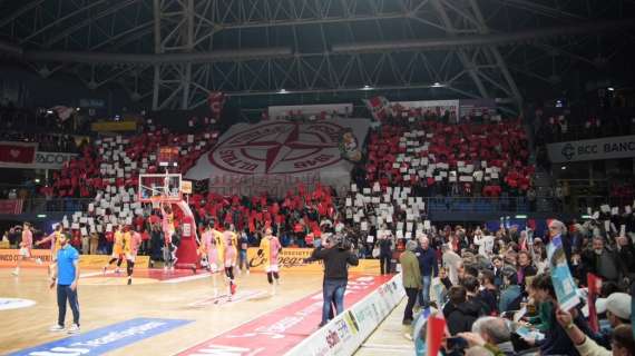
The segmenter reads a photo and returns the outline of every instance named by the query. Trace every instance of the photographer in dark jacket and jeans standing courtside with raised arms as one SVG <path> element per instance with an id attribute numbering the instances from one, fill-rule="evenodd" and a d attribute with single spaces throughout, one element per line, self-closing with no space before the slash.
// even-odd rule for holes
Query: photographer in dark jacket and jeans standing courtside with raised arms
<path id="1" fill-rule="evenodd" d="M 340 314 L 344 310 L 344 291 L 349 278 L 349 266 L 358 266 L 358 255 L 352 251 L 353 246 L 342 235 L 335 234 L 330 237 L 325 247 L 319 247 L 313 250 L 310 258 L 304 259 L 304 263 L 314 260 L 324 261 L 324 284 L 323 284 L 323 300 L 322 307 L 322 322 L 320 327 L 326 325 L 329 322 L 329 314 L 331 310 L 331 301 L 335 304 L 335 312 Z"/>

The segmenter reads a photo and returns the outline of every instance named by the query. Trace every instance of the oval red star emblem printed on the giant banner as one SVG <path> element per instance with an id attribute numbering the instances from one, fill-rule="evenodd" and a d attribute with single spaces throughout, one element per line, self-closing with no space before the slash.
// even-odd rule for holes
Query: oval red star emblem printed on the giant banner
<path id="1" fill-rule="evenodd" d="M 342 159 L 343 127 L 333 122 L 261 125 L 228 137 L 209 152 L 212 165 L 240 175 L 285 175 Z"/>

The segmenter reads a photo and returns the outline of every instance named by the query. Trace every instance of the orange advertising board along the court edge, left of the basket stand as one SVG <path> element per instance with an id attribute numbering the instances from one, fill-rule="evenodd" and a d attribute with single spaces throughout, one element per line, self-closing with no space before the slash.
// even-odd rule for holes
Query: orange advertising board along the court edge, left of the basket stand
<path id="1" fill-rule="evenodd" d="M 40 258 L 42 264 L 38 265 L 35 259 L 22 260 L 21 267 L 41 267 L 47 268 L 52 259 L 49 249 L 33 249 L 31 255 L 35 258 Z M 14 267 L 20 257 L 19 249 L 0 249 L 0 267 Z M 110 255 L 79 255 L 79 268 L 101 268 L 108 264 Z M 137 256 L 135 268 L 148 268 L 150 263 L 149 256 Z"/>

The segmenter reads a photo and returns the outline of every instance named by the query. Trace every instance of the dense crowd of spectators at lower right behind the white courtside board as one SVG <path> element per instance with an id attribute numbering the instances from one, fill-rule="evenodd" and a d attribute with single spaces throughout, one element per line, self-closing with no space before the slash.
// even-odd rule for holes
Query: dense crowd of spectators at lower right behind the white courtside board
<path id="1" fill-rule="evenodd" d="M 610 355 L 609 349 L 634 355 L 635 218 L 619 219 L 628 233 L 604 230 L 597 221 L 567 227 L 551 220 L 544 236 L 514 227 L 490 233 L 447 226 L 409 241 L 404 254 L 417 256 L 418 268 L 403 269 L 409 297 L 403 324 L 414 325 L 413 337 L 422 347 L 429 314 L 423 310 L 438 310 L 432 314 L 444 316 L 452 343 L 443 347 L 452 355 Z M 556 237 L 577 288 L 595 288 L 587 286 L 587 273 L 603 281 L 595 312 L 599 328 L 590 326 L 593 309 L 560 306 L 546 250 Z M 465 344 L 457 346 L 455 338 Z"/>

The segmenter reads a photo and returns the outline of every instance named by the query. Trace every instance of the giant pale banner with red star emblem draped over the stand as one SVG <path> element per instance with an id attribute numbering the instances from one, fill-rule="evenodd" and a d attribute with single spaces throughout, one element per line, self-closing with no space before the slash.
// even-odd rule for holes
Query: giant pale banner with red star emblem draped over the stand
<path id="1" fill-rule="evenodd" d="M 234 125 L 186 178 L 209 179 L 209 190 L 221 195 L 283 197 L 299 184 L 318 182 L 343 191 L 369 126 L 344 118 Z"/>

